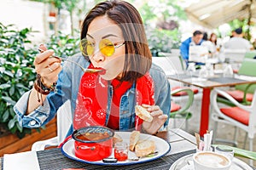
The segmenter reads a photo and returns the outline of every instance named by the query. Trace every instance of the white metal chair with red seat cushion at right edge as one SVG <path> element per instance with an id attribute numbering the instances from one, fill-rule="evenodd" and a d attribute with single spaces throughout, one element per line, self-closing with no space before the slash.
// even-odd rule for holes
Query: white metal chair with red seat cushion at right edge
<path id="1" fill-rule="evenodd" d="M 228 99 L 235 106 L 223 106 L 218 103 L 218 94 Z M 253 138 L 256 133 L 256 93 L 253 94 L 253 100 L 250 105 L 242 105 L 236 99 L 220 89 L 213 89 L 211 94 L 212 120 L 214 121 L 214 131 L 212 142 L 216 142 L 218 122 L 228 123 L 235 127 L 240 127 L 247 132 L 249 139 L 249 150 L 253 151 Z M 234 135 L 233 144 L 236 144 L 237 133 Z M 219 140 L 219 139 L 218 139 Z M 228 140 L 219 140 L 230 142 Z M 245 141 L 246 142 L 246 141 Z M 244 145 L 245 146 L 245 145 Z M 250 161 L 252 165 L 253 161 Z"/>

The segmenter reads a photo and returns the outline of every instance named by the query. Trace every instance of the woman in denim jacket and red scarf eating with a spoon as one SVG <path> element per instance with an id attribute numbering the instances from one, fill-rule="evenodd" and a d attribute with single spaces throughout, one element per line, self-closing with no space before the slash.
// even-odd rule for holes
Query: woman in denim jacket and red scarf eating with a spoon
<path id="1" fill-rule="evenodd" d="M 67 99 L 71 101 L 74 129 L 100 125 L 153 134 L 168 124 L 170 85 L 164 72 L 152 65 L 142 19 L 130 3 L 99 3 L 84 19 L 83 55 L 68 60 L 100 72 L 84 73 L 68 61 L 61 66 L 60 59 L 52 57 L 53 50 L 44 45 L 39 48 L 44 53 L 34 60 L 38 79 L 15 105 L 22 126 L 46 124 Z M 147 108 L 153 121 L 137 117 L 135 105 Z"/>

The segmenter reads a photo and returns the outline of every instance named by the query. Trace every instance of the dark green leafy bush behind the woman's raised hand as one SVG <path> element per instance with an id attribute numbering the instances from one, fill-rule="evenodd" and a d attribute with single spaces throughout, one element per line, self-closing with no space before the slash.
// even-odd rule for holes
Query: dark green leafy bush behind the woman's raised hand
<path id="1" fill-rule="evenodd" d="M 36 79 L 33 60 L 38 50 L 28 38 L 34 32 L 32 29 L 18 31 L 14 27 L 0 23 L 0 129 L 4 127 L 22 138 L 31 133 L 31 129 L 20 127 L 13 107 L 21 95 L 32 88 Z M 79 52 L 79 38 L 61 32 L 58 37 L 51 36 L 46 44 L 61 57 Z"/>

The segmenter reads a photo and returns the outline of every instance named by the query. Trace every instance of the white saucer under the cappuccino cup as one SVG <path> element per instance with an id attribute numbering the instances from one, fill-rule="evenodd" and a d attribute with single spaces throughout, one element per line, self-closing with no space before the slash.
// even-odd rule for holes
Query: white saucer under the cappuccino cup
<path id="1" fill-rule="evenodd" d="M 179 158 L 172 164 L 172 167 L 170 167 L 169 170 L 195 170 L 192 156 L 193 154 L 190 154 Z M 236 157 L 233 158 L 232 162 L 230 170 L 253 170 L 252 167 L 248 166 L 245 162 L 237 159 Z"/>

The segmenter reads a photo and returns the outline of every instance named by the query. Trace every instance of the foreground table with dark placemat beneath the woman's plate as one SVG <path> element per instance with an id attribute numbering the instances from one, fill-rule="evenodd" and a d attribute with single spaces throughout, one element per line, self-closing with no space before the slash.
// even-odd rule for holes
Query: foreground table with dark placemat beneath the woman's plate
<path id="1" fill-rule="evenodd" d="M 85 168 L 88 169 L 166 169 L 168 170 L 174 161 L 182 156 L 195 153 L 195 137 L 182 129 L 171 129 L 169 131 L 157 133 L 157 136 L 166 139 L 171 144 L 171 151 L 160 159 L 139 163 L 124 167 L 99 166 L 73 161 L 62 155 L 61 149 L 38 151 L 38 162 L 40 169 L 63 169 L 63 168 Z M 0 159 L 0 167 L 3 169 L 3 157 Z"/>

